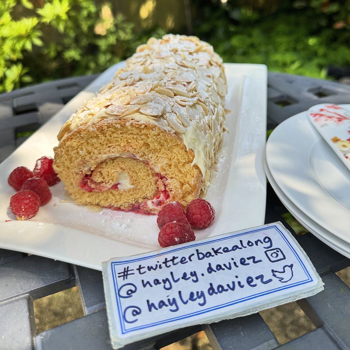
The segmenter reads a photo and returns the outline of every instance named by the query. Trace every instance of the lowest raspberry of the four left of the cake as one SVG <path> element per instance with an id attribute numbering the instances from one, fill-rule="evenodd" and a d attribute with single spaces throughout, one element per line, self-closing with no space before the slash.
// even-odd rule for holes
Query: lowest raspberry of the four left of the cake
<path id="1" fill-rule="evenodd" d="M 40 207 L 38 195 L 31 190 L 20 190 L 11 197 L 10 208 L 17 220 L 28 220 L 35 216 Z"/>

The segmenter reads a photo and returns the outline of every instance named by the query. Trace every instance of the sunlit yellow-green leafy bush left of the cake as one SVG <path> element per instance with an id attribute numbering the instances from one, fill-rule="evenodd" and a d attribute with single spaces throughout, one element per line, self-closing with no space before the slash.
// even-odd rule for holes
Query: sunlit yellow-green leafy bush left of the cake
<path id="1" fill-rule="evenodd" d="M 16 18 L 18 14 L 25 16 Z M 132 28 L 108 2 L 1 1 L 0 92 L 22 83 L 103 71 L 135 49 Z"/>

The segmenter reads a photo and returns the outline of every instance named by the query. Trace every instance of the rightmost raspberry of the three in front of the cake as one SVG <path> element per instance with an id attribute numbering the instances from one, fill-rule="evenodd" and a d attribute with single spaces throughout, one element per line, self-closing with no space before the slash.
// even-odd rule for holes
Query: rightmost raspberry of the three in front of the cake
<path id="1" fill-rule="evenodd" d="M 202 198 L 194 199 L 186 209 L 188 222 L 197 229 L 205 229 L 215 219 L 215 210 L 211 204 Z"/>

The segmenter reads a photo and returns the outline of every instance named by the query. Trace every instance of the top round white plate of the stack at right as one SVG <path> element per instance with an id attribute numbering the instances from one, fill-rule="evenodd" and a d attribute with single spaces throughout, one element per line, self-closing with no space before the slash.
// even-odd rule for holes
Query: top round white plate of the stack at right
<path id="1" fill-rule="evenodd" d="M 274 181 L 297 208 L 350 243 L 350 172 L 307 112 L 276 127 L 266 143 L 266 160 Z"/>

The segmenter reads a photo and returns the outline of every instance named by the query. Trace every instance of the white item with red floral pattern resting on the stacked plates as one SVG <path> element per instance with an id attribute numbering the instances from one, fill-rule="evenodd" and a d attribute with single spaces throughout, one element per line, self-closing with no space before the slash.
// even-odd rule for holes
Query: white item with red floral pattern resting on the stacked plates
<path id="1" fill-rule="evenodd" d="M 350 112 L 338 105 L 320 104 L 308 110 L 308 118 L 350 170 Z"/>

